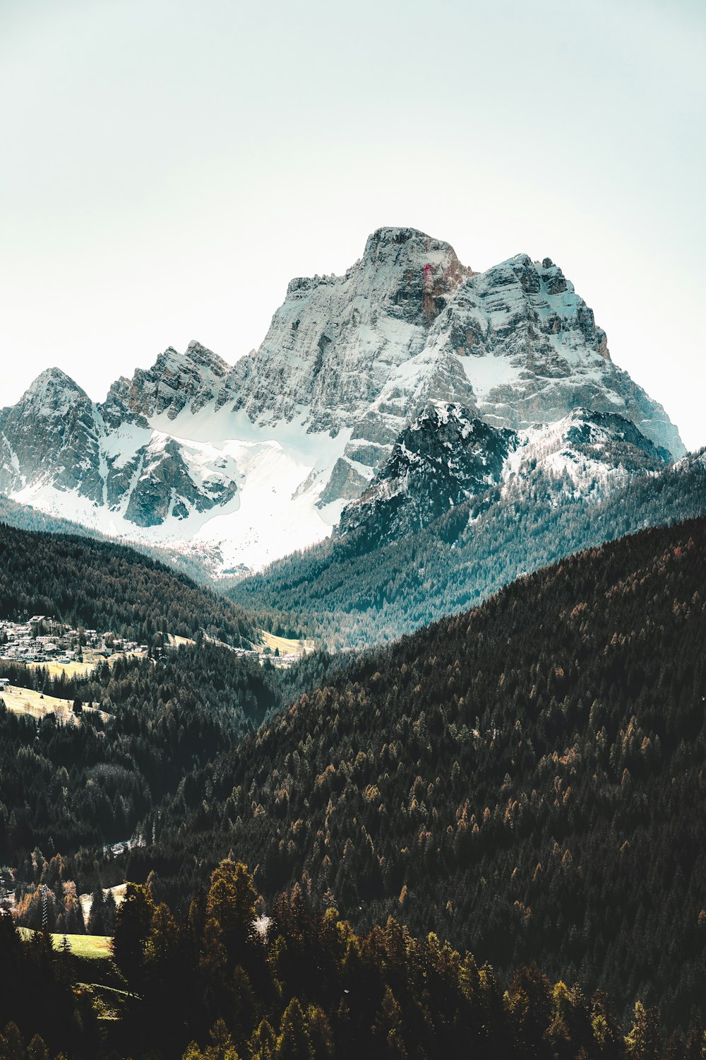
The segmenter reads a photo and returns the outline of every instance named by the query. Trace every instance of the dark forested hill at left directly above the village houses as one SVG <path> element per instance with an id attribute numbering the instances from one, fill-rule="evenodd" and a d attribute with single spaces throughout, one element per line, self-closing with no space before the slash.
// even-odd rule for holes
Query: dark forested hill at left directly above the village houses
<path id="1" fill-rule="evenodd" d="M 133 549 L 0 524 L 0 617 L 37 614 L 147 643 L 162 631 L 256 638 L 242 607 Z"/>

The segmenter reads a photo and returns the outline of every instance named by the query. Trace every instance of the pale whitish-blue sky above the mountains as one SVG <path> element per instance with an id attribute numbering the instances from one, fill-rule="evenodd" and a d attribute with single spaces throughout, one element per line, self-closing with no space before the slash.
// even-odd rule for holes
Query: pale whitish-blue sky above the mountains
<path id="1" fill-rule="evenodd" d="M 703 0 L 0 0 L 0 406 L 233 363 L 381 225 L 551 258 L 706 444 Z"/>

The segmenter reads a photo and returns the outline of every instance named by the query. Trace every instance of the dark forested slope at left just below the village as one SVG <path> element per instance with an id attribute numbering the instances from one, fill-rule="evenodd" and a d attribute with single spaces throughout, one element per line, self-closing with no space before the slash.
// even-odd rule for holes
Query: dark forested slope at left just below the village
<path id="1" fill-rule="evenodd" d="M 0 675 L 15 673 L 0 664 Z M 36 722 L 5 709 L 0 694 L 0 863 L 52 888 L 71 880 L 91 889 L 106 844 L 131 838 L 191 770 L 234 747 L 280 702 L 271 668 L 206 642 L 105 664 L 95 678 L 39 670 L 34 679 L 102 711 L 84 710 L 77 726 Z"/>

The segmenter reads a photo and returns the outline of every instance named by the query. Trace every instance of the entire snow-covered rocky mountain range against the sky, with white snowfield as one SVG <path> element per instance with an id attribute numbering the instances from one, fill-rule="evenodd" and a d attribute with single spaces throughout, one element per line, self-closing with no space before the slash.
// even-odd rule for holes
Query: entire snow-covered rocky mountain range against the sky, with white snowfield
<path id="1" fill-rule="evenodd" d="M 609 420 L 560 426 L 577 408 Z M 43 372 L 0 412 L 0 490 L 113 536 L 197 552 L 216 572 L 258 569 L 328 536 L 364 495 L 360 514 L 369 489 L 378 500 L 387 491 L 388 508 L 404 492 L 393 507 L 426 518 L 437 493 L 455 502 L 555 442 L 557 464 L 576 471 L 583 453 L 586 481 L 600 479 L 589 436 L 611 416 L 640 452 L 653 443 L 645 459 L 684 454 L 548 259 L 474 273 L 449 244 L 383 228 L 344 276 L 293 280 L 263 344 L 234 367 L 198 342 L 169 348 L 102 404 Z M 410 454 L 429 470 L 437 450 L 451 462 L 420 477 Z"/>

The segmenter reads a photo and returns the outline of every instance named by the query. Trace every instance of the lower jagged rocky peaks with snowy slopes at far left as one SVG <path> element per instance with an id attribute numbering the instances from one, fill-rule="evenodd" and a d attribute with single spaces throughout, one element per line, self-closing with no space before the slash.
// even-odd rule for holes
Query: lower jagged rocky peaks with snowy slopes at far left
<path id="1" fill-rule="evenodd" d="M 0 413 L 0 488 L 41 510 L 111 532 L 121 523 L 194 522 L 236 499 L 233 461 L 195 455 L 156 431 L 145 411 L 167 411 L 213 389 L 228 366 L 203 347 L 169 348 L 149 372 L 122 376 L 102 405 L 66 372 L 50 368 Z M 210 393 L 209 399 L 213 398 Z"/>

